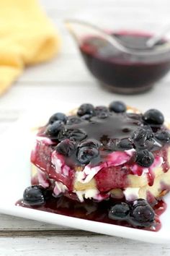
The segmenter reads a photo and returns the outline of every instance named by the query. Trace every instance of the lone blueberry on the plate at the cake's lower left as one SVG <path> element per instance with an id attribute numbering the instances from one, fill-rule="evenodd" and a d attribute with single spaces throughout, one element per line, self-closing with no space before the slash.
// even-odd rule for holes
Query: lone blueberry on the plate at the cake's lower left
<path id="1" fill-rule="evenodd" d="M 23 202 L 25 205 L 42 205 L 45 202 L 44 189 L 33 185 L 24 189 Z"/>

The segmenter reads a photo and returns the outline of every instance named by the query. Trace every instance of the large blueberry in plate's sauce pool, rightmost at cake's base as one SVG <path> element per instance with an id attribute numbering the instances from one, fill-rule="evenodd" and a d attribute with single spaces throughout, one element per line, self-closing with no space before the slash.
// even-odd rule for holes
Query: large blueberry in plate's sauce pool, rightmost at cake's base
<path id="1" fill-rule="evenodd" d="M 148 202 L 137 203 L 133 206 L 130 212 L 130 221 L 135 224 L 135 226 L 147 227 L 151 226 L 155 218 L 155 213 L 153 208 L 148 204 Z"/>

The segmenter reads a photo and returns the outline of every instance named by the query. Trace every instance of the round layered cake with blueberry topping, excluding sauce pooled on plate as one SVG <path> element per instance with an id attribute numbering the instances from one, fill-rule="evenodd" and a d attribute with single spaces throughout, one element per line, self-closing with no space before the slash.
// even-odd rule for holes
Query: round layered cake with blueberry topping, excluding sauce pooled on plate
<path id="1" fill-rule="evenodd" d="M 170 190 L 169 124 L 156 109 L 142 114 L 120 101 L 85 103 L 38 129 L 31 162 L 32 184 L 53 197 L 152 204 Z"/>

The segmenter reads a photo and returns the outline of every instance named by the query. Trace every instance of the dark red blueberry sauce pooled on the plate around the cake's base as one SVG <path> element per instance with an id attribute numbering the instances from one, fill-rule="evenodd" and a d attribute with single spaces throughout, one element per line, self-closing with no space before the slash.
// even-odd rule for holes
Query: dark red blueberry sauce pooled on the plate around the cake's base
<path id="1" fill-rule="evenodd" d="M 158 231 L 161 229 L 161 222 L 159 216 L 166 210 L 166 203 L 163 200 L 159 200 L 153 205 L 155 212 L 155 219 L 150 227 L 140 227 L 133 225 L 129 221 L 112 220 L 108 217 L 108 211 L 112 207 L 115 200 L 109 199 L 102 202 L 94 202 L 93 200 L 85 200 L 84 202 L 78 202 L 71 200 L 68 197 L 50 197 L 45 201 L 43 205 L 31 206 L 24 204 L 23 200 L 16 202 L 17 206 L 24 208 L 33 208 L 36 210 L 46 211 L 48 213 L 57 213 L 64 216 L 70 216 L 74 218 L 82 218 L 89 221 L 99 221 L 103 223 L 110 223 L 120 226 L 127 226 L 135 229 L 146 229 L 148 231 Z"/>

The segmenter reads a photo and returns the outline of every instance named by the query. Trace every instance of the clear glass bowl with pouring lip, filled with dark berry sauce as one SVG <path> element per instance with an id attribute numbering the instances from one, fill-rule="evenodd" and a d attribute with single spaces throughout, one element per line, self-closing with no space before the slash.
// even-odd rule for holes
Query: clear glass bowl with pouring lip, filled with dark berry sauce
<path id="1" fill-rule="evenodd" d="M 70 25 L 86 67 L 104 88 L 115 93 L 143 93 L 169 72 L 169 38 L 161 38 L 148 48 L 146 41 L 154 32 L 122 27 L 104 30 L 129 50 L 125 52 L 86 22 L 79 24 L 74 20 Z"/>

